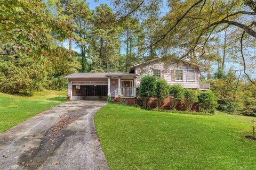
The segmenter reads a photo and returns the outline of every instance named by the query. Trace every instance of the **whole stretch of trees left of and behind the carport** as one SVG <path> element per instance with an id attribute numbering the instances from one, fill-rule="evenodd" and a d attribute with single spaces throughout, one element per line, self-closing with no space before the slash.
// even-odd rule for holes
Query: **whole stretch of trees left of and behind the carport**
<path id="1" fill-rule="evenodd" d="M 118 19 L 106 4 L 95 10 L 82 0 L 1 0 L 0 5 L 2 92 L 60 90 L 67 74 L 127 72 L 139 62 L 146 39 L 142 24 L 131 16 Z"/>

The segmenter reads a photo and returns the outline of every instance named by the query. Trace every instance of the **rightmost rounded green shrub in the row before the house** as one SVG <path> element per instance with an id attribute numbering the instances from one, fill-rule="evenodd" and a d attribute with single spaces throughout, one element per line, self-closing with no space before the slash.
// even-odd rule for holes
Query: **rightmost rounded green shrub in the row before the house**
<path id="1" fill-rule="evenodd" d="M 200 92 L 198 102 L 199 111 L 201 112 L 214 113 L 214 108 L 218 106 L 217 98 L 211 90 Z"/>

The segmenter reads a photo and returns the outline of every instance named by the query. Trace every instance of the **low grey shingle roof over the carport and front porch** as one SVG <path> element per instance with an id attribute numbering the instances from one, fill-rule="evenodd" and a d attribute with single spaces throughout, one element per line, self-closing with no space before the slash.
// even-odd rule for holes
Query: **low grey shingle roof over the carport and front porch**
<path id="1" fill-rule="evenodd" d="M 124 77 L 135 77 L 138 74 L 133 73 L 73 73 L 67 75 L 66 79 L 102 79 L 107 78 L 108 76 L 124 76 Z"/>

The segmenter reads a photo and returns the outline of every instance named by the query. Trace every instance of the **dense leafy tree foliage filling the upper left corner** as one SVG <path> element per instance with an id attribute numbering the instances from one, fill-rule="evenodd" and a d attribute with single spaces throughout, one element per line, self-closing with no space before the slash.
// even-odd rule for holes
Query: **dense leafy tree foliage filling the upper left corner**
<path id="1" fill-rule="evenodd" d="M 71 25 L 55 18 L 44 1 L 1 0 L 0 6 L 1 60 L 38 59 L 51 53 L 53 39 L 61 41 L 71 35 Z"/>

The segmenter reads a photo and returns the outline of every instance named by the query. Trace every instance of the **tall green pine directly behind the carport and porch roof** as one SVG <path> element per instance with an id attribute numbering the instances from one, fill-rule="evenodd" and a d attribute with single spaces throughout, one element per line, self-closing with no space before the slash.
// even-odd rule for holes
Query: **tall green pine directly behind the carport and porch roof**
<path id="1" fill-rule="evenodd" d="M 112 9 L 101 4 L 93 13 L 93 28 L 90 36 L 89 55 L 92 59 L 92 71 L 115 72 L 118 70 L 118 58 L 121 41 L 118 37 L 121 27 L 114 24 Z"/>

